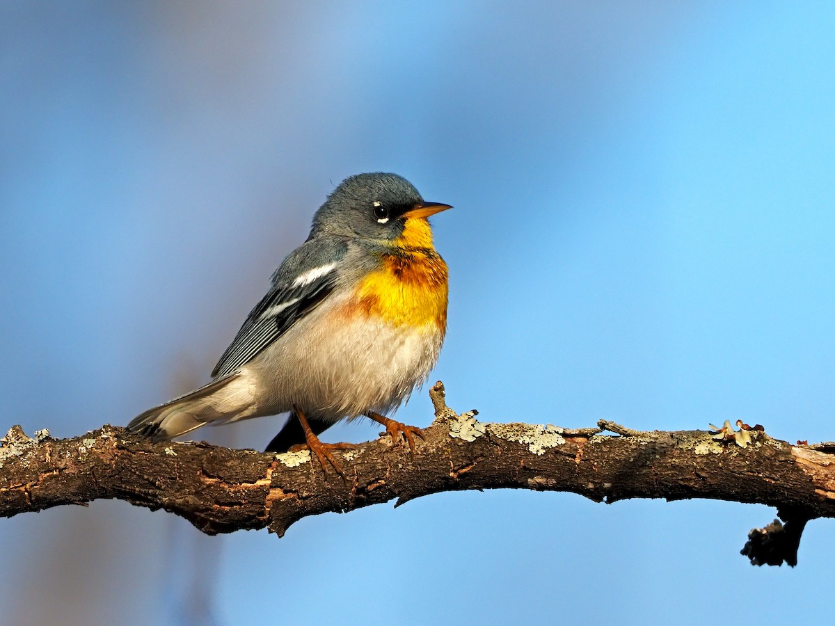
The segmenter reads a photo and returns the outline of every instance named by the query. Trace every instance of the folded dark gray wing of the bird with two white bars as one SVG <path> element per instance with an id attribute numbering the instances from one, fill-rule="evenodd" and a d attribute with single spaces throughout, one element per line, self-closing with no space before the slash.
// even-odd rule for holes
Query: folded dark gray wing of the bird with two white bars
<path id="1" fill-rule="evenodd" d="M 246 317 L 211 375 L 222 378 L 261 354 L 331 294 L 347 252 L 342 241 L 308 240 L 272 275 L 272 286 Z"/>

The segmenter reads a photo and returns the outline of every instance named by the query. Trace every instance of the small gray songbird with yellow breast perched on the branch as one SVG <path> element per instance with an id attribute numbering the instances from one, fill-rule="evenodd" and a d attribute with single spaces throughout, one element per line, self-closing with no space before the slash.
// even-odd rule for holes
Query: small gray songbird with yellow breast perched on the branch
<path id="1" fill-rule="evenodd" d="M 212 371 L 212 381 L 144 411 L 128 425 L 155 441 L 207 423 L 291 411 L 266 447 L 309 447 L 342 474 L 317 435 L 367 416 L 414 452 L 417 427 L 385 416 L 426 380 L 447 327 L 447 264 L 428 217 L 451 209 L 424 202 L 397 174 L 342 181 L 313 216 L 310 236 L 272 275 Z"/>

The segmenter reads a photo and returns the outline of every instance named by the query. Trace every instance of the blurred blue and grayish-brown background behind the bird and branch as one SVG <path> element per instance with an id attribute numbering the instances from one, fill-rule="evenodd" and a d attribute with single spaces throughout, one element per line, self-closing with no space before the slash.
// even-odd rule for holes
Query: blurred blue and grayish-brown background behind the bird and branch
<path id="1" fill-rule="evenodd" d="M 382 170 L 455 206 L 456 410 L 835 439 L 833 28 L 832 3 L 3 3 L 0 430 L 207 381 L 326 194 Z M 426 391 L 398 418 L 431 422 Z M 263 449 L 283 419 L 198 438 Z M 819 623 L 835 524 L 752 568 L 774 515 L 442 493 L 210 538 L 93 502 L 0 520 L 0 623 Z"/>

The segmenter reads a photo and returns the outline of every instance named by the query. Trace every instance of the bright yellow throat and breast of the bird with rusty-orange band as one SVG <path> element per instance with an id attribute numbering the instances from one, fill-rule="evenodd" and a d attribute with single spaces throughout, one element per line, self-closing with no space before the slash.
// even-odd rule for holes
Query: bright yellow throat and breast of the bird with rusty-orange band
<path id="1" fill-rule="evenodd" d="M 427 220 L 407 220 L 381 267 L 362 281 L 356 307 L 394 326 L 447 327 L 447 264 L 433 249 Z"/>

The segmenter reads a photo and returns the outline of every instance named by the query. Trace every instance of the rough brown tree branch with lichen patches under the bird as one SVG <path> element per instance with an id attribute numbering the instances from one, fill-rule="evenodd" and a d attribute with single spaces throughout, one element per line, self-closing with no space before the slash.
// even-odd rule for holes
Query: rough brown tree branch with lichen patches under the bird
<path id="1" fill-rule="evenodd" d="M 835 517 L 835 455 L 725 430 L 639 432 L 613 422 L 569 430 L 480 423 L 457 415 L 443 385 L 430 391 L 436 418 L 414 457 L 388 437 L 341 454 L 343 481 L 311 464 L 310 453 L 266 454 L 206 443 L 152 443 L 105 426 L 55 440 L 9 431 L 0 447 L 0 516 L 62 504 L 119 498 L 185 517 L 204 533 L 269 528 L 283 535 L 297 520 L 348 512 L 397 498 L 464 489 L 574 492 L 595 502 L 631 497 L 705 497 L 777 507 L 787 522 L 751 531 L 752 563 L 797 562 L 802 528 Z M 727 425 L 726 425 L 727 426 Z"/>

